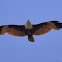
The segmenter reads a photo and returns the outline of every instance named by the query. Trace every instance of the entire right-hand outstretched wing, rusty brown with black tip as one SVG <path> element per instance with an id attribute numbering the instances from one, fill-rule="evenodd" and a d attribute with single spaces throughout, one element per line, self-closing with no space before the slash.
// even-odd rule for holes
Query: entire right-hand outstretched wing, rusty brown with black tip
<path id="1" fill-rule="evenodd" d="M 50 22 L 44 22 L 33 25 L 32 31 L 33 31 L 33 35 L 42 35 L 48 33 L 52 29 L 58 30 L 60 28 L 62 28 L 62 23 L 58 21 L 50 21 Z"/>

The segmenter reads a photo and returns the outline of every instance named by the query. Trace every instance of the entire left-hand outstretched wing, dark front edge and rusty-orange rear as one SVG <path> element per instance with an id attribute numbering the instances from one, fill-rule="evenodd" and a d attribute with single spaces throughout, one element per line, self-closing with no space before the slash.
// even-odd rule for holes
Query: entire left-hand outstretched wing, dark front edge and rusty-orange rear
<path id="1" fill-rule="evenodd" d="M 13 36 L 26 36 L 24 25 L 3 25 L 0 26 L 0 34 L 10 34 Z"/>

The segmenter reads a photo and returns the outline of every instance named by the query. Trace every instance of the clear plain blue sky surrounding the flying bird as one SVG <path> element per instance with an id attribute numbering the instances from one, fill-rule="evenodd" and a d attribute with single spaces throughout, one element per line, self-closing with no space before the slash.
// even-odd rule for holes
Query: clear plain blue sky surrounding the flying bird
<path id="1" fill-rule="evenodd" d="M 0 25 L 62 22 L 62 0 L 0 0 Z M 0 62 L 62 62 L 62 29 L 34 36 L 0 35 Z"/>

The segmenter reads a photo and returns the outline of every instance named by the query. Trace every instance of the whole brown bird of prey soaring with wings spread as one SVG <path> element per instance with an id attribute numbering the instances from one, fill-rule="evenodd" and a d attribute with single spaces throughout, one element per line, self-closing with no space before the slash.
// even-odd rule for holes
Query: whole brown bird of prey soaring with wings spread
<path id="1" fill-rule="evenodd" d="M 62 23 L 59 21 L 49 21 L 40 24 L 32 25 L 28 20 L 25 25 L 2 25 L 0 26 L 0 35 L 6 33 L 13 36 L 28 36 L 28 40 L 34 42 L 33 35 L 42 35 L 49 31 L 59 30 L 62 28 Z"/>

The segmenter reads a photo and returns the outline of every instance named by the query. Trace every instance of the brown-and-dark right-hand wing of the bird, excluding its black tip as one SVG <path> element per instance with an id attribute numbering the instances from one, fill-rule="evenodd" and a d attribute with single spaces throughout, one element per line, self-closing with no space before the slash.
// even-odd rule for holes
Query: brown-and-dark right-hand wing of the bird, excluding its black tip
<path id="1" fill-rule="evenodd" d="M 33 25 L 33 35 L 42 35 L 48 33 L 52 29 L 57 30 L 56 26 L 52 22 L 44 22 L 40 24 Z"/>

